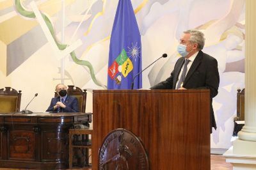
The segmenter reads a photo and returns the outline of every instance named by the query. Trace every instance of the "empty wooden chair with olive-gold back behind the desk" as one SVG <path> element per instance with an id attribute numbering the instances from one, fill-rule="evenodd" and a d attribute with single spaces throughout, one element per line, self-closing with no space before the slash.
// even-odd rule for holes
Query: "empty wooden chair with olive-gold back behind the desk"
<path id="1" fill-rule="evenodd" d="M 21 90 L 6 87 L 0 89 L 0 112 L 20 111 Z"/>

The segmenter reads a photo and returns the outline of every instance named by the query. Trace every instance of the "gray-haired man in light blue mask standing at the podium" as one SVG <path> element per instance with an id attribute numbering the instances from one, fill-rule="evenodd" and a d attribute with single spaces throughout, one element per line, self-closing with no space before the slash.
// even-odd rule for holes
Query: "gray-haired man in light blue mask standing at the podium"
<path id="1" fill-rule="evenodd" d="M 210 89 L 211 127 L 216 130 L 212 98 L 218 94 L 220 75 L 217 60 L 202 52 L 204 41 L 202 32 L 184 31 L 177 47 L 182 58 L 177 60 L 171 76 L 166 81 L 159 82 L 150 89 Z"/>

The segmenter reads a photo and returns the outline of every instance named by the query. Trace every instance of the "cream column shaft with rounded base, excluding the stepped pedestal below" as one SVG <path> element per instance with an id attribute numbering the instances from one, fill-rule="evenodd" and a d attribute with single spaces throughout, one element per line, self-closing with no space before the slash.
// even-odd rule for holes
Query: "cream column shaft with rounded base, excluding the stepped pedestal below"
<path id="1" fill-rule="evenodd" d="M 245 18 L 245 115 L 239 139 L 256 141 L 256 1 L 246 1 Z M 255 153 L 256 154 L 256 153 Z"/>

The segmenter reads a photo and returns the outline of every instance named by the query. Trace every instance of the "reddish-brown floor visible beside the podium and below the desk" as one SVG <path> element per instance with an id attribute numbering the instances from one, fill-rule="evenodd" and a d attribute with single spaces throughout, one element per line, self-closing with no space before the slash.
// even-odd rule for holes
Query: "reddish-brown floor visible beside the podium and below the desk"
<path id="1" fill-rule="evenodd" d="M 10 170 L 10 168 L 0 168 L 0 170 L 7 170 L 7 169 Z M 81 169 L 90 170 L 85 168 L 81 168 Z M 18 169 L 12 169 L 12 170 L 18 170 Z M 25 170 L 25 169 L 19 169 L 19 170 Z M 225 158 L 222 157 L 222 155 L 211 155 L 211 170 L 232 170 L 232 165 L 230 163 L 227 163 Z"/>

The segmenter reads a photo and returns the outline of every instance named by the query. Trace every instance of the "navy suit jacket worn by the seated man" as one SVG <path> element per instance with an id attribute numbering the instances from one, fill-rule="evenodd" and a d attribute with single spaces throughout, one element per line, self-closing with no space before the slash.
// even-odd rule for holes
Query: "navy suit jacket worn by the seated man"
<path id="1" fill-rule="evenodd" d="M 54 105 L 56 105 L 57 102 L 60 102 L 60 97 L 54 97 L 51 100 L 51 104 L 46 110 L 47 112 L 57 112 L 58 109 L 53 109 Z M 78 100 L 76 97 L 67 96 L 64 104 L 66 105 L 66 108 L 60 107 L 60 112 L 79 112 L 78 107 Z"/>

